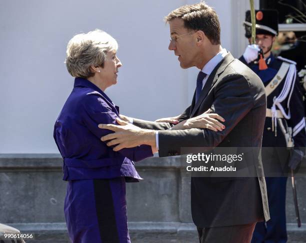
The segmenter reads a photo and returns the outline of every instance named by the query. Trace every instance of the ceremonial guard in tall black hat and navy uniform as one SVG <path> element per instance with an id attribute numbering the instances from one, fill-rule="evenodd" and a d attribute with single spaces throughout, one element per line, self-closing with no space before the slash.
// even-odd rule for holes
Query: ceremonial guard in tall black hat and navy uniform
<path id="1" fill-rule="evenodd" d="M 280 56 L 275 57 L 271 48 L 278 33 L 276 10 L 256 10 L 256 44 L 246 47 L 240 61 L 248 65 L 262 80 L 267 109 L 262 137 L 262 164 L 271 219 L 258 222 L 251 242 L 286 242 L 285 167 L 295 169 L 306 145 L 304 107 L 302 92 L 297 80 L 295 62 Z M 250 43 L 251 16 L 245 14 L 245 37 Z M 286 147 L 293 147 L 289 152 Z M 279 169 L 275 169 L 275 165 Z M 270 176 L 270 177 L 269 177 Z M 276 177 L 272 177 L 276 176 Z M 282 176 L 282 177 L 279 177 Z"/>

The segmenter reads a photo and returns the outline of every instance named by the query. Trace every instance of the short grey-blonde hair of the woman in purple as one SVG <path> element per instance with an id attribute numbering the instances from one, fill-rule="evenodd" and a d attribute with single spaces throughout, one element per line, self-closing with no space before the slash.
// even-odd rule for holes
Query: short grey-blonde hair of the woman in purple
<path id="1" fill-rule="evenodd" d="M 103 67 L 107 51 L 116 51 L 117 41 L 105 31 L 95 29 L 74 35 L 66 50 L 66 67 L 73 77 L 93 76 L 90 66 Z"/>

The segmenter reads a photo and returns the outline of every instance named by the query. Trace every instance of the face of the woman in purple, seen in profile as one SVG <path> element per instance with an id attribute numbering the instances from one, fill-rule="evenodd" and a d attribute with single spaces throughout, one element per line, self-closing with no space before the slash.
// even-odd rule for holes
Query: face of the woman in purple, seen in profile
<path id="1" fill-rule="evenodd" d="M 101 68 L 100 77 L 103 82 L 109 87 L 117 83 L 118 68 L 122 66 L 119 58 L 114 50 L 108 51 L 104 66 Z"/>

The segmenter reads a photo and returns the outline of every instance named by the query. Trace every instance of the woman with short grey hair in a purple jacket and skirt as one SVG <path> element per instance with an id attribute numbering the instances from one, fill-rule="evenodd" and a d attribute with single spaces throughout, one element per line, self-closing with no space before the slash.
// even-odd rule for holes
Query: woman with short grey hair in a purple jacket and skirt
<path id="1" fill-rule="evenodd" d="M 75 77 L 54 125 L 54 139 L 63 157 L 67 180 L 64 214 L 72 242 L 130 242 L 125 182 L 141 179 L 133 161 L 152 156 L 141 145 L 116 152 L 100 140 L 115 124 L 118 107 L 105 94 L 117 82 L 122 65 L 116 40 L 101 30 L 77 34 L 67 45 L 66 66 Z"/>

